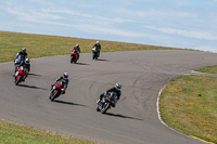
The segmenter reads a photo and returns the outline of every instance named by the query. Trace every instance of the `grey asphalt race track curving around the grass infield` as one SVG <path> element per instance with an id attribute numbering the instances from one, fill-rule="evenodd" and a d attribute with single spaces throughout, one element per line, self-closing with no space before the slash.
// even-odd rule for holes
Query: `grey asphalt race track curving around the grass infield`
<path id="1" fill-rule="evenodd" d="M 101 53 L 99 61 L 80 54 L 30 60 L 25 82 L 14 84 L 14 65 L 0 64 L 0 119 L 106 144 L 200 144 L 158 120 L 159 90 L 173 78 L 216 65 L 217 54 L 179 50 Z M 65 95 L 50 102 L 50 86 L 67 71 Z M 95 110 L 99 95 L 116 82 L 123 95 L 107 114 Z"/>

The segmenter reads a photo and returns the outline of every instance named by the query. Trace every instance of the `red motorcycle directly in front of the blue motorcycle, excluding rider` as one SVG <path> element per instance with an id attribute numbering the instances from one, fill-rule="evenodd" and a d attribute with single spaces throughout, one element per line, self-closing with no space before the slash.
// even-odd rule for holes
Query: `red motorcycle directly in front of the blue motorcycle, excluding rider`
<path id="1" fill-rule="evenodd" d="M 20 82 L 24 81 L 26 77 L 27 77 L 27 70 L 23 66 L 21 66 L 16 71 L 16 74 L 14 75 L 15 84 L 17 86 Z"/>

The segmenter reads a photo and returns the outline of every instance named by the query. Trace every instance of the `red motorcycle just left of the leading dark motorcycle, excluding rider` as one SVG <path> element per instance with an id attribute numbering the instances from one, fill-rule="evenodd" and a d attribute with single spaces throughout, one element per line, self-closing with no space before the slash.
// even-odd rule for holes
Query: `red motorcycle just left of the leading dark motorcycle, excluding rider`
<path id="1" fill-rule="evenodd" d="M 65 93 L 65 88 L 63 84 L 61 86 L 61 83 L 58 82 L 53 87 L 51 87 L 49 99 L 51 101 L 54 101 L 56 97 L 59 97 L 63 93 Z"/>

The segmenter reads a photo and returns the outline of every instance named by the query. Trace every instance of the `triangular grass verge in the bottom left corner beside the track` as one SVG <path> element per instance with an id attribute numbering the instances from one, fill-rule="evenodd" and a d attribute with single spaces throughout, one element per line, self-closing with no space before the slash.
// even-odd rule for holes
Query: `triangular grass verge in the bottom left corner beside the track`
<path id="1" fill-rule="evenodd" d="M 94 144 L 0 120 L 0 144 Z"/>

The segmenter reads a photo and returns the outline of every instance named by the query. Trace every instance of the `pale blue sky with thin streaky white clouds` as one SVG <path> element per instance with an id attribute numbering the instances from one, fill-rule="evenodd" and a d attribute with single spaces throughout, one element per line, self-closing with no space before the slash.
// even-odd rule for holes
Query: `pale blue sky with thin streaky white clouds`
<path id="1" fill-rule="evenodd" d="M 0 0 L 0 30 L 217 52 L 217 0 Z"/>

